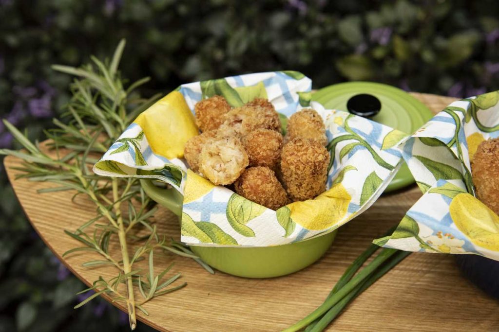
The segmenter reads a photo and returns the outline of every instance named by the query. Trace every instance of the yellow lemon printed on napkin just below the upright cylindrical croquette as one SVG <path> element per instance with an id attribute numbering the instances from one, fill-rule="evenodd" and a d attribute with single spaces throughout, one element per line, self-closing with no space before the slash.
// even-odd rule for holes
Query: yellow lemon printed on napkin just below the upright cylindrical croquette
<path id="1" fill-rule="evenodd" d="M 297 224 L 310 230 L 322 230 L 333 226 L 346 215 L 351 200 L 345 187 L 338 183 L 313 200 L 294 202 L 287 207 L 291 211 L 291 219 Z"/>

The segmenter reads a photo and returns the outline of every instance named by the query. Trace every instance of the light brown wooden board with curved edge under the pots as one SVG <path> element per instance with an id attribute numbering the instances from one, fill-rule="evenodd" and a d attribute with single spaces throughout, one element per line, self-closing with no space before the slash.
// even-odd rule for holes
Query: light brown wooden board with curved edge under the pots
<path id="1" fill-rule="evenodd" d="M 414 94 L 433 111 L 453 98 Z M 109 268 L 85 268 L 92 253 L 62 259 L 78 245 L 63 233 L 94 216 L 95 207 L 83 198 L 71 203 L 68 193 L 36 194 L 51 186 L 14 181 L 19 160 L 5 158 L 5 168 L 17 198 L 36 231 L 54 254 L 86 284 L 99 276 L 115 276 Z M 401 220 L 421 196 L 415 186 L 382 196 L 368 211 L 341 227 L 332 247 L 312 266 L 289 276 L 245 279 L 221 272 L 210 275 L 189 258 L 156 255 L 156 267 L 175 261 L 174 272 L 188 282 L 184 289 L 153 300 L 138 319 L 160 331 L 279 331 L 322 304 L 345 268 L 373 238 Z M 177 219 L 167 210 L 155 216 L 160 233 L 179 238 Z M 112 250 L 118 250 L 112 243 Z M 98 259 L 98 256 L 95 256 Z M 453 255 L 414 253 L 359 296 L 331 331 L 492 331 L 499 328 L 499 302 L 461 277 Z M 158 269 L 159 270 L 159 269 Z M 120 308 L 123 310 L 123 308 Z"/>

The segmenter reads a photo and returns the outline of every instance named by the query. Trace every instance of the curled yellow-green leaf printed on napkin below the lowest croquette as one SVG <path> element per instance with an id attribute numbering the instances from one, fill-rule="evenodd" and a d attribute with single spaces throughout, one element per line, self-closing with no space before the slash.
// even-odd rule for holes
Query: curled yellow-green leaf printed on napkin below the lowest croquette
<path id="1" fill-rule="evenodd" d="M 233 194 L 227 204 L 227 220 L 241 235 L 254 237 L 253 230 L 246 224 L 265 211 L 265 207 L 247 200 L 243 196 Z"/>

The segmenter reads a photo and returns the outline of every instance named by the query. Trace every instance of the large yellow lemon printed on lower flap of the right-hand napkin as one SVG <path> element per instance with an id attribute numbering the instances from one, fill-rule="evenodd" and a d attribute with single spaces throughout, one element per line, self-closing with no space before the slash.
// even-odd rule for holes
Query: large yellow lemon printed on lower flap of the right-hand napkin
<path id="1" fill-rule="evenodd" d="M 470 194 L 457 195 L 450 205 L 451 218 L 471 241 L 499 251 L 499 216 Z"/>

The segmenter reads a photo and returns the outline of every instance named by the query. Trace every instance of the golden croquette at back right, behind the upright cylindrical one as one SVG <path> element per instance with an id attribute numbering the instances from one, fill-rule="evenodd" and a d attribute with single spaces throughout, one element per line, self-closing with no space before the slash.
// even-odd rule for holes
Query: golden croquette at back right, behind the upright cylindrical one
<path id="1" fill-rule="evenodd" d="M 326 127 L 317 111 L 305 109 L 289 117 L 284 141 L 288 142 L 294 138 L 313 139 L 322 146 L 327 144 Z"/>

